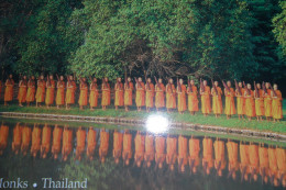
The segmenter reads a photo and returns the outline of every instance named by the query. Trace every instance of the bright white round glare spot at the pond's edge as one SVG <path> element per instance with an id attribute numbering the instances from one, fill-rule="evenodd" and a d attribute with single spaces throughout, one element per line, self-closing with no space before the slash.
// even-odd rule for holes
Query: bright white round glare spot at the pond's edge
<path id="1" fill-rule="evenodd" d="M 168 128 L 168 120 L 158 114 L 150 115 L 146 121 L 146 128 L 152 133 L 165 132 Z"/>

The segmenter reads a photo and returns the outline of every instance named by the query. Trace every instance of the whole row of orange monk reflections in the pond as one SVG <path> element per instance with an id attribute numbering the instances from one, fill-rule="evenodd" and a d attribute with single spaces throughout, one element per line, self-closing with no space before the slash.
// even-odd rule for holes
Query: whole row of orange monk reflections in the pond
<path id="1" fill-rule="evenodd" d="M 74 131 L 67 126 L 51 127 L 44 125 L 40 127 L 34 125 L 16 124 L 13 128 L 12 150 L 15 154 L 22 152 L 26 155 L 31 143 L 31 155 L 36 157 L 37 154 L 42 158 L 46 158 L 51 150 L 54 159 L 58 158 L 62 150 L 62 159 L 67 160 L 74 147 Z M 94 159 L 97 144 L 99 144 L 99 158 L 103 163 L 108 150 L 110 149 L 109 133 L 105 128 L 79 127 L 76 130 L 75 159 L 80 160 L 84 153 L 89 160 Z M 8 146 L 9 127 L 4 124 L 0 127 L 0 153 Z M 53 136 L 53 137 L 52 137 Z M 99 143 L 98 143 L 98 141 Z M 133 141 L 132 141 L 133 139 Z M 241 178 L 244 180 L 257 180 L 261 175 L 264 182 L 268 179 L 275 186 L 279 182 L 286 186 L 286 150 L 280 147 L 266 147 L 263 144 L 237 143 L 228 139 L 213 139 L 204 137 L 202 152 L 201 138 L 187 137 L 183 135 L 154 135 L 138 131 L 135 137 L 128 130 L 124 132 L 113 132 L 112 156 L 116 164 L 119 164 L 122 157 L 123 164 L 129 165 L 130 159 L 134 158 L 134 165 L 140 167 L 144 165 L 150 167 L 155 161 L 156 167 L 162 168 L 166 164 L 170 170 L 175 165 L 178 170 L 184 172 L 186 166 L 189 166 L 190 172 L 197 172 L 197 168 L 202 164 L 204 171 L 209 175 L 211 168 L 217 169 L 217 174 L 222 176 L 222 171 L 228 167 L 229 177 L 237 178 L 237 171 L 241 171 Z M 134 146 L 133 146 L 134 143 Z M 132 148 L 133 146 L 133 148 Z M 226 148 L 227 147 L 227 148 Z M 215 152 L 215 153 L 213 153 Z M 227 156 L 226 156 L 227 153 Z M 227 163 L 228 160 L 228 163 Z"/>

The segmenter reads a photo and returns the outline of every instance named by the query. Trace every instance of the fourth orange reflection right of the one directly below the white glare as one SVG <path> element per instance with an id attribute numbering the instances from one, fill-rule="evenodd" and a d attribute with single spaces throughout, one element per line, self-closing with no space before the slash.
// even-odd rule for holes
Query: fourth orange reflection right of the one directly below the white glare
<path id="1" fill-rule="evenodd" d="M 204 171 L 209 175 L 210 169 L 213 167 L 213 149 L 212 139 L 205 137 L 202 139 L 202 168 Z"/>

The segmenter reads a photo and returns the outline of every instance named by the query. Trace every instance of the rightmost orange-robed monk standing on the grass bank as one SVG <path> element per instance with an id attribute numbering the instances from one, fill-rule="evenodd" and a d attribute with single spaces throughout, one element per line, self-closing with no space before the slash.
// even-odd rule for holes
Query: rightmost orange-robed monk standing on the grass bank
<path id="1" fill-rule="evenodd" d="M 274 91 L 271 92 L 272 98 L 272 116 L 274 119 L 274 122 L 278 122 L 283 119 L 282 113 L 282 93 L 278 90 L 278 86 L 274 83 L 273 86 Z"/>

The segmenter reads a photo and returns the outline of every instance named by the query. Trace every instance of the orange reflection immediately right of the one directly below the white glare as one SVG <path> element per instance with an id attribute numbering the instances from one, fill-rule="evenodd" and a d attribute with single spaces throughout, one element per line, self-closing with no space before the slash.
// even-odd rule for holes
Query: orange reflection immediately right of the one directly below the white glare
<path id="1" fill-rule="evenodd" d="M 173 137 L 168 135 L 166 164 L 169 165 L 169 169 L 172 171 L 175 169 L 176 160 L 177 160 L 177 137 Z"/>

